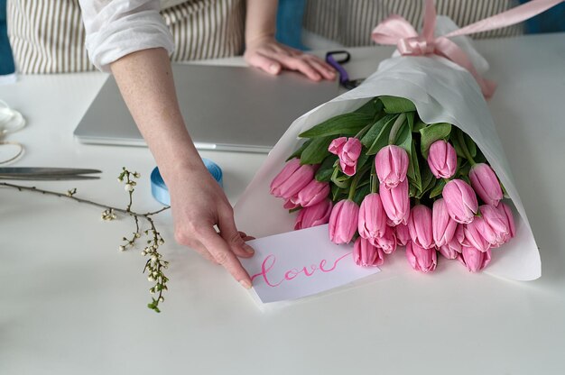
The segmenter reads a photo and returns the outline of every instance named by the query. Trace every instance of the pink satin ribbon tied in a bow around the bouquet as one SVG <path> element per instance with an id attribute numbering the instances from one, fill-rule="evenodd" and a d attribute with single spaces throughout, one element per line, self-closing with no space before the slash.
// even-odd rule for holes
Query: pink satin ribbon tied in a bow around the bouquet
<path id="1" fill-rule="evenodd" d="M 521 23 L 563 1 L 565 0 L 532 0 L 501 14 L 471 23 L 462 29 L 435 37 L 436 9 L 433 0 L 425 0 L 423 27 L 420 34 L 403 17 L 393 14 L 375 27 L 372 37 L 379 44 L 396 45 L 403 56 L 435 54 L 455 62 L 477 79 L 483 95 L 488 98 L 495 92 L 496 84 L 482 78 L 465 51 L 461 50 L 454 41 L 449 40 L 449 37 L 486 32 Z"/>

